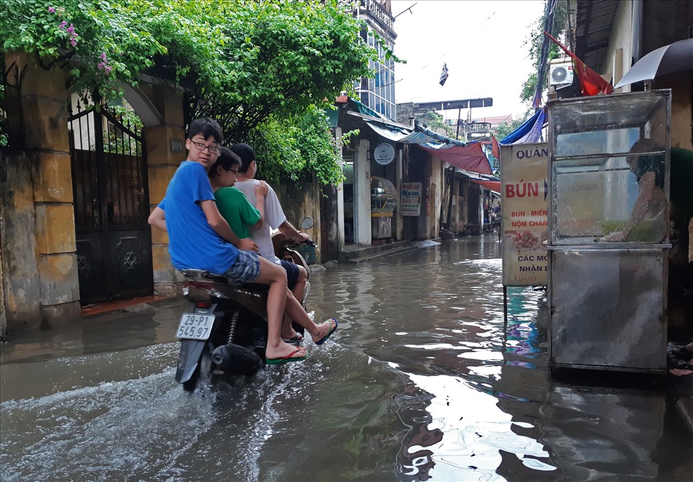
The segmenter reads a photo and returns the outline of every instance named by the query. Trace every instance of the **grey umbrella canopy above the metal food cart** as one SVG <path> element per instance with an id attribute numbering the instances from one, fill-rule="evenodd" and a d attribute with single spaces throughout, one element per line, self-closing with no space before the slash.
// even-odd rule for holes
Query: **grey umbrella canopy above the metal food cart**
<path id="1" fill-rule="evenodd" d="M 679 40 L 651 51 L 635 62 L 613 88 L 686 70 L 693 70 L 693 39 Z"/>

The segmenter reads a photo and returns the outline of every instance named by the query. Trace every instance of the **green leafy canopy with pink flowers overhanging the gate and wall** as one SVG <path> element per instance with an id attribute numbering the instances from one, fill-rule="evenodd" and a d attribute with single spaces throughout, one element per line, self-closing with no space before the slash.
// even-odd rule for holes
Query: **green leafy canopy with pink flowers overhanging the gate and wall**
<path id="1" fill-rule="evenodd" d="M 0 49 L 67 69 L 73 92 L 105 100 L 121 96 L 123 83 L 137 86 L 142 74 L 182 87 L 186 124 L 214 117 L 229 140 L 261 141 L 258 151 L 267 148 L 265 159 L 275 163 L 265 171 L 277 178 L 299 177 L 293 169 L 302 165 L 333 182 L 335 149 L 315 106 L 367 76 L 376 55 L 341 3 L 4 0 Z M 304 128 L 310 136 L 297 134 Z M 281 157 L 288 152 L 304 161 Z"/>

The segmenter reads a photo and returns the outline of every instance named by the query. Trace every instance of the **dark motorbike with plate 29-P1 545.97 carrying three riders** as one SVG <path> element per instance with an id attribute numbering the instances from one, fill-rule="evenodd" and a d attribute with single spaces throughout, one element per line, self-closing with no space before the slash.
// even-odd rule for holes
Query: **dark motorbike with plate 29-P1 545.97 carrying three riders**
<path id="1" fill-rule="evenodd" d="M 313 224 L 313 219 L 305 218 L 301 229 L 310 229 Z M 304 266 L 310 273 L 295 241 L 279 233 L 272 242 L 277 257 Z M 315 246 L 312 240 L 306 244 Z M 180 273 L 185 278 L 182 291 L 190 309 L 183 313 L 175 334 L 180 340 L 176 381 L 192 392 L 201 380 L 233 383 L 238 377 L 255 375 L 265 364 L 267 286 L 239 284 L 204 270 Z M 305 303 L 309 290 L 310 282 L 306 282 L 301 303 Z M 295 328 L 303 332 L 302 327 Z"/>

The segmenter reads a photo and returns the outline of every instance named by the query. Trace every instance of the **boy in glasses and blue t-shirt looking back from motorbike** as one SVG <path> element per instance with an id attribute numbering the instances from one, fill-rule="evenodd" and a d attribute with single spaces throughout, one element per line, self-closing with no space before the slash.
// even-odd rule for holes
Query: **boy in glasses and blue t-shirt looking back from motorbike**
<path id="1" fill-rule="evenodd" d="M 207 270 L 239 283 L 269 285 L 267 363 L 303 360 L 305 348 L 281 340 L 285 309 L 318 344 L 335 332 L 337 320 L 315 325 L 289 291 L 283 268 L 258 257 L 257 245 L 248 238 L 238 239 L 219 214 L 207 173 L 219 156 L 222 140 L 217 121 L 202 118 L 191 122 L 185 143 L 188 158 L 176 170 L 164 200 L 150 214 L 149 223 L 168 232 L 168 252 L 175 268 Z"/>

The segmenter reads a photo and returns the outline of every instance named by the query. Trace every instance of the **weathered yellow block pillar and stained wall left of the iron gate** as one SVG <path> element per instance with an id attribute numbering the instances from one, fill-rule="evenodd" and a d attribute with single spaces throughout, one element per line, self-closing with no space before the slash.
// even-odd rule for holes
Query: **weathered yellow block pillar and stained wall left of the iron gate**
<path id="1" fill-rule="evenodd" d="M 5 62 L 1 243 L 13 332 L 78 320 L 80 305 L 64 71 L 42 69 L 24 53 L 6 53 Z"/>

